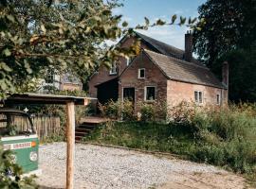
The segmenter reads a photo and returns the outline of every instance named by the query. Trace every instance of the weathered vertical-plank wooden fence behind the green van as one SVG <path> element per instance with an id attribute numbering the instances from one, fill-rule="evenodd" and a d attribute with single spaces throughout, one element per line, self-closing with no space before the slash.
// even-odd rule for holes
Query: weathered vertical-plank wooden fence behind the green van
<path id="1" fill-rule="evenodd" d="M 2 117 L 0 117 L 2 118 Z M 37 130 L 39 139 L 42 140 L 47 136 L 60 134 L 61 120 L 56 116 L 34 116 L 31 117 L 34 128 Z M 27 130 L 27 119 L 24 117 L 15 117 L 13 124 L 19 126 L 21 130 Z M 0 128 L 5 128 L 5 123 L 0 123 Z"/>

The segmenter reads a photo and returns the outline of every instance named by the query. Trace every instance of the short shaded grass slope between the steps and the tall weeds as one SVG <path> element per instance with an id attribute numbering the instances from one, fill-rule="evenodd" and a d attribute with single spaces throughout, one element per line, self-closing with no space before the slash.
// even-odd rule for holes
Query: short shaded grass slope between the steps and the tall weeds
<path id="1" fill-rule="evenodd" d="M 174 151 L 174 146 L 183 151 L 192 145 L 189 133 L 177 135 L 171 125 L 156 123 L 108 123 L 94 130 L 84 141 L 116 146 L 127 146 L 146 150 Z"/>

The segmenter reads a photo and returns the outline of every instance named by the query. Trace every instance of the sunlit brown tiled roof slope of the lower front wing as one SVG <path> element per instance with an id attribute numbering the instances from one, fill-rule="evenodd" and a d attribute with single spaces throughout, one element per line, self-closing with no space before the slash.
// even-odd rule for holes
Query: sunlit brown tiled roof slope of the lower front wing
<path id="1" fill-rule="evenodd" d="M 178 60 L 150 50 L 143 50 L 143 52 L 145 52 L 148 58 L 152 60 L 169 79 L 216 88 L 227 88 L 210 72 L 210 69 L 204 65 Z"/>

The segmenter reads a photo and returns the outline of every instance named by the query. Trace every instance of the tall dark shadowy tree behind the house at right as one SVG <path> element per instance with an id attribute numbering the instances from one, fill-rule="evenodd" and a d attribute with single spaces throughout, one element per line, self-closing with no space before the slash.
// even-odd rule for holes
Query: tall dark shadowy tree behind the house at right
<path id="1" fill-rule="evenodd" d="M 209 0 L 199 7 L 201 30 L 194 31 L 194 52 L 217 75 L 229 61 L 229 99 L 255 101 L 256 1 Z"/>

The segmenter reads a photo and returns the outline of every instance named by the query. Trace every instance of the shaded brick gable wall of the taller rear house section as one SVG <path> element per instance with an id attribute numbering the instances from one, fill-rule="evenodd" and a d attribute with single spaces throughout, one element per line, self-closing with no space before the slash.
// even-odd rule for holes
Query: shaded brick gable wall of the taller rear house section
<path id="1" fill-rule="evenodd" d="M 126 39 L 122 44 L 121 47 L 127 48 L 132 45 L 135 38 L 131 37 Z M 150 49 L 146 46 L 146 44 L 141 43 L 141 48 L 144 49 Z M 123 72 L 123 70 L 127 67 L 126 59 L 123 57 L 120 57 L 119 59 L 119 75 Z M 104 66 L 101 66 L 98 73 L 95 73 L 89 81 L 89 94 L 92 97 L 97 97 L 97 88 L 95 88 L 95 85 L 101 84 L 102 82 L 105 82 L 107 80 L 110 80 L 112 78 L 118 77 L 117 75 L 109 75 L 109 70 L 105 68 Z"/>

